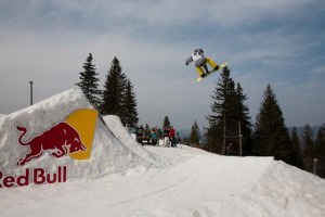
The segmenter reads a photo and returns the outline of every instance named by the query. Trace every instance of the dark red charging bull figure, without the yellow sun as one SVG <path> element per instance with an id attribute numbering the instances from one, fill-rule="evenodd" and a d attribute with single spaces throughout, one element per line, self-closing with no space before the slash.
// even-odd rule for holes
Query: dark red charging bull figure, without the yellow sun
<path id="1" fill-rule="evenodd" d="M 40 157 L 46 151 L 50 152 L 54 157 L 62 157 L 74 152 L 87 150 L 81 142 L 78 131 L 67 123 L 60 123 L 26 142 L 23 141 L 23 137 L 27 129 L 21 126 L 16 128 L 21 131 L 18 137 L 20 144 L 29 146 L 29 152 L 17 162 L 18 166 L 25 165 L 32 158 Z"/>

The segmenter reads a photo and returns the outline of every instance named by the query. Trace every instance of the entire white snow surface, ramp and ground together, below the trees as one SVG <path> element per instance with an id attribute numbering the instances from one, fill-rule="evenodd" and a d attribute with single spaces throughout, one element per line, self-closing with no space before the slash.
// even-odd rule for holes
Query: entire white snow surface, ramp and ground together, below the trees
<path id="1" fill-rule="evenodd" d="M 86 120 L 94 129 L 89 143 L 82 140 L 82 111 L 94 114 L 75 88 L 0 116 L 1 217 L 325 216 L 325 181 L 312 174 L 272 157 L 142 146 L 117 116 Z M 30 152 L 20 143 L 17 126 L 26 128 L 21 142 L 28 143 L 61 123 L 75 129 L 88 154 L 64 143 L 61 151 L 44 146 L 40 156 L 17 164 Z"/>

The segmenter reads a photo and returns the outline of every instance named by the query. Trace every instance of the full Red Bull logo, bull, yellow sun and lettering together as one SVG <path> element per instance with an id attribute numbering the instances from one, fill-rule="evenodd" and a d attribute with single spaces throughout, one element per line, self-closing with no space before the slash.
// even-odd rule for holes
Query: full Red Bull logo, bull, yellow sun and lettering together
<path id="1" fill-rule="evenodd" d="M 78 110 L 69 114 L 64 122 L 29 138 L 26 136 L 28 129 L 23 125 L 16 125 L 17 145 L 27 150 L 17 159 L 17 167 L 28 167 L 30 162 L 37 161 L 44 153 L 54 158 L 70 157 L 76 161 L 90 158 L 96 120 L 95 110 Z M 56 173 L 50 174 L 39 166 L 26 168 L 25 174 L 16 176 L 4 175 L 0 170 L 0 188 L 65 182 L 68 176 L 67 169 L 66 166 L 58 166 Z"/>

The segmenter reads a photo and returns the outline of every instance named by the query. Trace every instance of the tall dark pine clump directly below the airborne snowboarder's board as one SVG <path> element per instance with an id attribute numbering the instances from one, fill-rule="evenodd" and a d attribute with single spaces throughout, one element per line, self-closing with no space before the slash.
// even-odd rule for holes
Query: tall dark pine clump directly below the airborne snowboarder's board
<path id="1" fill-rule="evenodd" d="M 248 107 L 244 104 L 247 99 L 243 93 L 240 84 L 235 87 L 230 77 L 230 69 L 225 67 L 213 91 L 212 115 L 208 116 L 209 128 L 207 129 L 207 150 L 214 153 L 225 154 L 226 146 L 232 144 L 232 154 L 239 154 L 240 135 L 250 137 Z M 243 139 L 243 138 L 240 138 Z M 227 149 L 230 150 L 230 149 Z"/>

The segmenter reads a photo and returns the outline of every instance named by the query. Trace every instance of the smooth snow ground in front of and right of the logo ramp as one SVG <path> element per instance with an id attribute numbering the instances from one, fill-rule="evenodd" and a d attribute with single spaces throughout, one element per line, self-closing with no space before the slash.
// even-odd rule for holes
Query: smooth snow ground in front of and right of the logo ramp
<path id="1" fill-rule="evenodd" d="M 172 167 L 1 192 L 1 216 L 322 217 L 324 180 L 270 157 L 152 148 Z M 129 170 L 131 171 L 131 170 Z M 18 208 L 17 208 L 18 207 Z"/>

